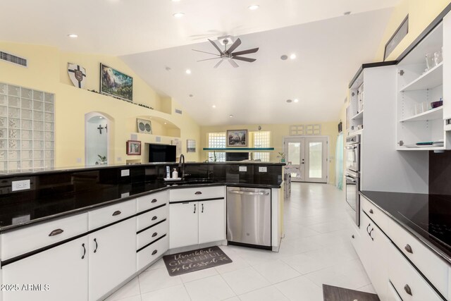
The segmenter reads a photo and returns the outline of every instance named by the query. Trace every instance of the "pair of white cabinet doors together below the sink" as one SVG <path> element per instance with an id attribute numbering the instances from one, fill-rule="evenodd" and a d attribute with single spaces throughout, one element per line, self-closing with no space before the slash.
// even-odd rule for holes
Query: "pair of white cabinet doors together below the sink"
<path id="1" fill-rule="evenodd" d="M 169 205 L 169 248 L 226 239 L 224 199 Z"/>

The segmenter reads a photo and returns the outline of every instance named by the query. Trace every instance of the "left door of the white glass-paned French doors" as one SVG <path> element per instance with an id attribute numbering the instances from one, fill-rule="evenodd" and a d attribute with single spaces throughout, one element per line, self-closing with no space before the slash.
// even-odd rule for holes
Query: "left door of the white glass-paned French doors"
<path id="1" fill-rule="evenodd" d="M 287 137 L 284 139 L 285 161 L 291 162 L 291 180 L 304 181 L 304 138 Z"/>

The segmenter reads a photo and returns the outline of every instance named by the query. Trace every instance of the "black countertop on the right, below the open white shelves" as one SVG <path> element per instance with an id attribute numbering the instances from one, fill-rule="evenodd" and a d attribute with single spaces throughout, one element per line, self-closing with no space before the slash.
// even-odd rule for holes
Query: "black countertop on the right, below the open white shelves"
<path id="1" fill-rule="evenodd" d="M 360 193 L 451 264 L 451 195 Z"/>

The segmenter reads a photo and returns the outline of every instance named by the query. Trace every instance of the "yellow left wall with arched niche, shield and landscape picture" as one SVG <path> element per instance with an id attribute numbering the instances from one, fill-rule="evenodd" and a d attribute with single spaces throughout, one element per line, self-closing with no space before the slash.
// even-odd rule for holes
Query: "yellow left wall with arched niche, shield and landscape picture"
<path id="1" fill-rule="evenodd" d="M 55 94 L 55 166 L 85 165 L 85 113 L 97 111 L 113 119 L 110 145 L 113 156 L 109 163 L 123 164 L 127 160 L 144 162 L 142 156 L 127 156 L 125 142 L 130 140 L 130 134 L 137 132 L 136 118 L 159 118 L 152 121 L 154 134 L 178 135 L 182 140 L 182 152 L 187 161 L 199 161 L 202 151 L 186 154 L 186 140 L 193 139 L 200 144 L 200 128 L 186 113 L 173 113 L 172 108 L 180 105 L 168 97 L 161 98 L 141 78 L 132 72 L 128 66 L 113 56 L 91 54 L 74 54 L 59 51 L 55 47 L 29 44 L 14 44 L 0 42 L 2 51 L 23 56 L 28 59 L 28 67 L 23 68 L 12 63 L 0 61 L 0 82 L 12 85 L 30 87 Z M 77 63 L 87 70 L 87 90 L 78 89 L 70 82 L 67 73 L 67 63 Z M 154 110 L 130 104 L 120 99 L 108 97 L 88 90 L 99 91 L 99 64 L 104 63 L 133 77 L 133 102 L 152 106 Z M 163 102 L 163 104 L 162 104 Z M 171 102 L 168 104 L 168 102 Z M 161 111 L 158 111 L 161 109 Z M 164 113 L 166 111 L 167 113 Z M 170 113 L 172 112 L 172 113 Z M 166 128 L 162 120 L 171 123 L 173 130 Z M 180 134 L 178 134 L 180 133 Z M 144 142 L 154 142 L 156 135 L 139 135 Z M 161 142 L 171 143 L 171 137 L 163 137 Z M 121 158 L 121 161 L 118 160 Z M 78 161 L 81 159 L 81 161 Z"/>

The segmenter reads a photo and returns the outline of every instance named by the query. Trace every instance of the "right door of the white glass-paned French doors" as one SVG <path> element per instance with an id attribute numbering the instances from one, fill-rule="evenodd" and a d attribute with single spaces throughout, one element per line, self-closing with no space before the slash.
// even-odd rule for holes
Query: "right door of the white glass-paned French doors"
<path id="1" fill-rule="evenodd" d="M 327 137 L 304 138 L 306 182 L 327 183 Z"/>

